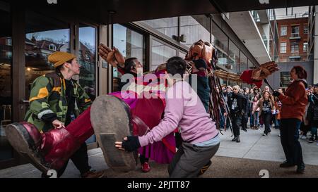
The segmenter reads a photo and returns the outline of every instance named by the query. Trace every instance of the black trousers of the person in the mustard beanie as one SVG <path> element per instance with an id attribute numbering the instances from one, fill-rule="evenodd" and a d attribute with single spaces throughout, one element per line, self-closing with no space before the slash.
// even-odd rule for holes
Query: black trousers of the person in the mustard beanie
<path id="1" fill-rule="evenodd" d="M 88 154 L 87 154 L 87 145 L 86 143 L 83 143 L 81 148 L 78 149 L 70 158 L 75 167 L 81 172 L 81 174 L 84 174 L 90 170 L 90 166 L 88 165 Z M 61 175 L 64 173 L 67 165 L 69 164 L 69 160 L 65 163 L 61 169 L 57 171 L 57 177 L 61 177 Z"/>

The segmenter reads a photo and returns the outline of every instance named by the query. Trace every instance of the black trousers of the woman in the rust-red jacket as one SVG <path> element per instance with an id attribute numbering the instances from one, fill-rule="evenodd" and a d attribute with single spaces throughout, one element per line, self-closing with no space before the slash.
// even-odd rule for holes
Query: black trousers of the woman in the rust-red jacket
<path id="1" fill-rule="evenodd" d="M 302 146 L 300 146 L 299 132 L 301 121 L 295 118 L 281 120 L 281 145 L 286 160 L 295 165 L 302 165 Z"/>

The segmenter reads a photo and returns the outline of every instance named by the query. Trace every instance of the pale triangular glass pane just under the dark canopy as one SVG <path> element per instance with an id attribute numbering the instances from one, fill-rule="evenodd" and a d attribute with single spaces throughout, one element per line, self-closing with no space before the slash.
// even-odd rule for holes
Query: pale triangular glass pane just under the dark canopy
<path id="1" fill-rule="evenodd" d="M 149 25 L 151 28 L 158 30 L 168 37 L 172 38 L 172 36 L 178 35 L 178 18 L 161 18 L 154 20 L 143 20 L 141 23 Z"/>

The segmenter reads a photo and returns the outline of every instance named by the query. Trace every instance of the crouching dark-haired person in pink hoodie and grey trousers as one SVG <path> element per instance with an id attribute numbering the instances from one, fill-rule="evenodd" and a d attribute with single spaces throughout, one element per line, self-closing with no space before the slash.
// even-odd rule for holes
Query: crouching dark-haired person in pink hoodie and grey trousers
<path id="1" fill-rule="evenodd" d="M 168 167 L 171 178 L 196 177 L 220 146 L 215 122 L 206 113 L 196 92 L 182 81 L 186 66 L 187 63 L 179 57 L 167 60 L 169 75 L 166 77 L 170 88 L 166 92 L 165 115 L 158 126 L 145 136 L 127 136 L 124 141 L 115 143 L 122 151 L 136 151 L 140 146 L 160 141 L 179 127 L 184 142 Z"/>

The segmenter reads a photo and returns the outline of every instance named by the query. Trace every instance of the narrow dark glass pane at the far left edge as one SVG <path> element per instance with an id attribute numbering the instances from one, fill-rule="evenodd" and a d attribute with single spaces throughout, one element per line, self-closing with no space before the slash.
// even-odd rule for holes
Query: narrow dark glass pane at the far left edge
<path id="1" fill-rule="evenodd" d="M 4 128 L 12 120 L 12 44 L 10 7 L 0 1 L 0 162 L 13 158 Z"/>

